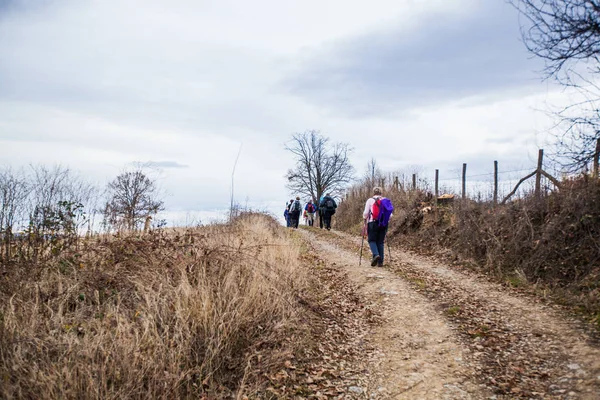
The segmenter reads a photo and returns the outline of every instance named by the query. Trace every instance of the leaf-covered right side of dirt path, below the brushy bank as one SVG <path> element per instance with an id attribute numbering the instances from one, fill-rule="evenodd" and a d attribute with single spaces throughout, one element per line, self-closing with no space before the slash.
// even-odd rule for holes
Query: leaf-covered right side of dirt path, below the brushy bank
<path id="1" fill-rule="evenodd" d="M 320 233 L 358 259 L 360 237 Z M 386 267 L 435 304 L 498 398 L 600 398 L 600 349 L 579 323 L 485 279 L 393 248 Z"/>

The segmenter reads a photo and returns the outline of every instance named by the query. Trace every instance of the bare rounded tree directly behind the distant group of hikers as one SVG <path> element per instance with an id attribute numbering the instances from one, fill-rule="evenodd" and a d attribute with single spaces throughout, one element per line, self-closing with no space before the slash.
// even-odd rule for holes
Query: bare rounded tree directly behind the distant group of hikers
<path id="1" fill-rule="evenodd" d="M 323 193 L 341 195 L 353 177 L 354 168 L 346 143 L 330 144 L 319 131 L 292 135 L 286 150 L 294 155 L 296 166 L 287 172 L 288 189 L 318 201 Z"/>

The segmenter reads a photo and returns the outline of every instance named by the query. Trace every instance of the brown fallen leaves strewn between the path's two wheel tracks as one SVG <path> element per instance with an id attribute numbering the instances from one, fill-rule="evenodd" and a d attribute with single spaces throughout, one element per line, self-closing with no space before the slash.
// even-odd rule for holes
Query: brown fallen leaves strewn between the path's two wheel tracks
<path id="1" fill-rule="evenodd" d="M 319 230 L 316 234 L 356 252 L 358 258 L 355 240 Z M 368 250 L 365 251 L 368 254 Z M 493 300 L 456 287 L 449 280 L 411 263 L 395 260 L 387 268 L 403 277 L 446 316 L 470 350 L 473 378 L 497 395 L 578 398 L 581 393 L 573 388 L 584 380 L 595 379 L 586 375 L 579 365 L 566 364 L 568 355 L 561 342 L 568 338 L 523 325 Z"/>

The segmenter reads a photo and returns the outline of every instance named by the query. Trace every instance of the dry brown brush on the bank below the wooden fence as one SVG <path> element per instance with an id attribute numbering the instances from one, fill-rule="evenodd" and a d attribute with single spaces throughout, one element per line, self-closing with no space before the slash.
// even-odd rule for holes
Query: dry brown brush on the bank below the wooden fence
<path id="1" fill-rule="evenodd" d="M 336 226 L 358 234 L 367 183 L 353 188 Z M 512 286 L 531 288 L 574 306 L 600 326 L 600 181 L 564 181 L 538 199 L 528 196 L 494 207 L 457 200 L 439 212 L 426 191 L 389 189 L 396 207 L 389 238 L 422 253 L 443 255 L 455 265 L 485 272 Z"/>

